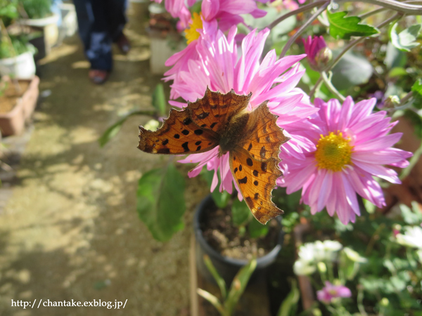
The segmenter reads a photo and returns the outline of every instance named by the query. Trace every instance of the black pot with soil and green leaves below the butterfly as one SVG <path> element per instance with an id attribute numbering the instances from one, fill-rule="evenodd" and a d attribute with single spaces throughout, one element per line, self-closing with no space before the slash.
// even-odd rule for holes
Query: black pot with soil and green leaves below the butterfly
<path id="1" fill-rule="evenodd" d="M 244 202 L 226 199 L 226 194 L 219 192 L 216 195 L 222 198 L 206 197 L 193 218 L 198 271 L 212 281 L 202 260 L 207 255 L 226 284 L 231 284 L 238 270 L 256 256 L 257 266 L 250 281 L 264 281 L 283 244 L 281 220 L 271 220 L 264 226 L 253 218 Z"/>

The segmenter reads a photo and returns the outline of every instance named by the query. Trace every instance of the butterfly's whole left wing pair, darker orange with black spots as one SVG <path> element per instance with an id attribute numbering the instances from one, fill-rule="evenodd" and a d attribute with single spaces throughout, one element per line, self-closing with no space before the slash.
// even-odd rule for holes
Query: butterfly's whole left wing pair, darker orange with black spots
<path id="1" fill-rule="evenodd" d="M 157 131 L 139 126 L 138 148 L 153 154 L 207 152 L 219 145 L 220 133 L 248 106 L 251 96 L 240 96 L 234 90 L 222 94 L 207 88 L 203 98 L 188 102 L 184 110 L 170 110 Z"/>

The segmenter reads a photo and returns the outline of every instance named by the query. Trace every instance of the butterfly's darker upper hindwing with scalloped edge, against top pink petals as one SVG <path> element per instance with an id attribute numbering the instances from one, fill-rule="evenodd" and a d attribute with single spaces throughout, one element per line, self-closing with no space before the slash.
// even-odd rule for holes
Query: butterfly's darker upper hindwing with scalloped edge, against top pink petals
<path id="1" fill-rule="evenodd" d="M 188 102 L 188 109 L 198 126 L 221 133 L 231 118 L 248 106 L 250 96 L 252 95 L 240 96 L 234 90 L 222 94 L 207 88 L 202 99 L 193 103 Z"/>

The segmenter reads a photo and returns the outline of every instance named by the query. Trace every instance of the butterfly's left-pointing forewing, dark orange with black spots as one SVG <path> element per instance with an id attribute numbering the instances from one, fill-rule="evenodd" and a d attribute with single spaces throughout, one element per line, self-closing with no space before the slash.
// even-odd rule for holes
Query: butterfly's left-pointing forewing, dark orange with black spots
<path id="1" fill-rule="evenodd" d="M 153 154 L 196 154 L 218 145 L 213 131 L 203 129 L 191 119 L 188 109 L 170 110 L 168 119 L 157 131 L 139 126 L 138 148 Z"/>

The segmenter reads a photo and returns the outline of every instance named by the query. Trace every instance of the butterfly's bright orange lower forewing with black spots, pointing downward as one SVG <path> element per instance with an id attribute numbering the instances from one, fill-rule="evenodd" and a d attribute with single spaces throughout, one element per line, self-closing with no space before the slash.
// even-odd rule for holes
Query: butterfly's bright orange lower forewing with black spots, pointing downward
<path id="1" fill-rule="evenodd" d="M 276 179 L 282 175 L 279 161 L 274 157 L 260 161 L 240 148 L 230 152 L 230 169 L 234 180 L 253 216 L 262 224 L 283 213 L 271 201 Z"/>

